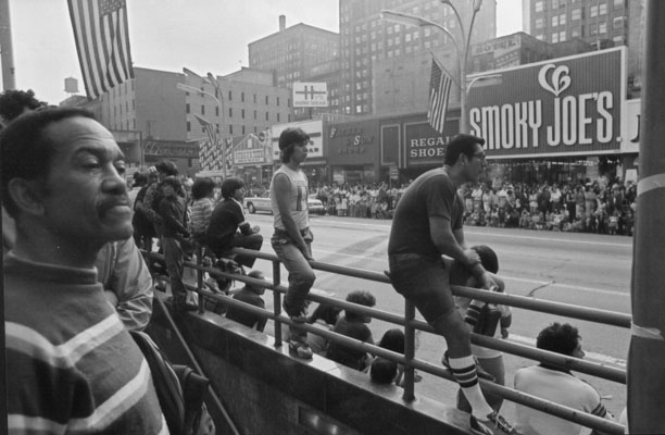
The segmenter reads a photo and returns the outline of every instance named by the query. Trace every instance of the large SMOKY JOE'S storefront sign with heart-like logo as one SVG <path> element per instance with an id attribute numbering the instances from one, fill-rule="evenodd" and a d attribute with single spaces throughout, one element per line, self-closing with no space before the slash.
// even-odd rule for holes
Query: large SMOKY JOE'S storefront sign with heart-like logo
<path id="1" fill-rule="evenodd" d="M 501 84 L 472 88 L 470 133 L 488 156 L 618 150 L 624 48 L 502 71 Z"/>

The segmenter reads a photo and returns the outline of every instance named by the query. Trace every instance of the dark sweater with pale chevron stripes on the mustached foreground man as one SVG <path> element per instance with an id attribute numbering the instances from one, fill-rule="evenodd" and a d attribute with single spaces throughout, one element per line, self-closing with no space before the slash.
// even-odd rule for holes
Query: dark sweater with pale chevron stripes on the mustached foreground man
<path id="1" fill-rule="evenodd" d="M 10 434 L 168 433 L 148 363 L 95 269 L 10 252 L 4 274 Z"/>

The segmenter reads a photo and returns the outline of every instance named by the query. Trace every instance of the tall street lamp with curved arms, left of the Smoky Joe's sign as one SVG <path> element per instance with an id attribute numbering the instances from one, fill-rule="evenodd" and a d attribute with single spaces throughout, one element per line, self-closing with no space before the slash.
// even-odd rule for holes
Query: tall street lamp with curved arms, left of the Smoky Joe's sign
<path id="1" fill-rule="evenodd" d="M 468 32 L 464 32 L 464 23 L 462 23 L 460 13 L 457 12 L 457 9 L 454 7 L 454 4 L 452 4 L 450 0 L 441 0 L 441 3 L 452 9 L 453 14 L 455 15 L 457 20 L 457 24 L 460 26 L 460 32 L 462 34 L 462 40 L 459 40 L 459 38 L 456 38 L 443 25 L 439 23 L 435 23 L 422 16 L 416 16 L 416 15 L 412 15 L 412 14 L 404 13 L 404 12 L 384 10 L 381 11 L 381 18 L 392 22 L 392 23 L 402 24 L 402 25 L 412 26 L 412 27 L 434 26 L 450 37 L 450 39 L 453 42 L 453 46 L 455 47 L 455 52 L 457 54 L 457 71 L 460 72 L 459 79 L 457 80 L 453 79 L 454 82 L 456 82 L 457 86 L 460 87 L 460 111 L 461 111 L 460 132 L 465 132 L 466 124 L 467 124 L 466 97 L 467 97 L 467 89 L 470 88 L 470 86 L 467 86 L 466 84 L 466 61 L 468 59 L 470 33 L 472 33 L 472 29 L 474 28 L 474 22 L 476 21 L 476 14 L 478 13 L 478 11 L 480 10 L 480 7 L 482 5 L 482 0 L 470 0 L 472 17 L 468 24 L 468 29 L 467 29 Z"/>

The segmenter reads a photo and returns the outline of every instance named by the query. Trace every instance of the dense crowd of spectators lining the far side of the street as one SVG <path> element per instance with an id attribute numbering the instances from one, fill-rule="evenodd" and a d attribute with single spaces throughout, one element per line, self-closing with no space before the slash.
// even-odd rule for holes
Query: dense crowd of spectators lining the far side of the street
<path id="1" fill-rule="evenodd" d="M 492 186 L 493 185 L 493 186 Z M 407 184 L 319 184 L 311 196 L 328 215 L 391 219 Z M 262 188 L 252 188 L 255 195 Z M 460 189 L 469 226 L 582 232 L 631 236 L 637 184 L 580 179 L 566 183 L 478 183 Z"/>

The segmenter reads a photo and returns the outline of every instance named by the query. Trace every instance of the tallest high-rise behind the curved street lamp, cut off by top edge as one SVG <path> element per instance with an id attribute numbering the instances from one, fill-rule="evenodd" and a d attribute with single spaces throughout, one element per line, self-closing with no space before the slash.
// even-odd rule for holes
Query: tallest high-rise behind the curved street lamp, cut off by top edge
<path id="1" fill-rule="evenodd" d="M 374 83 L 375 77 L 385 77 L 386 74 L 385 71 L 375 74 L 375 67 L 386 70 L 391 69 L 391 64 L 402 64 L 407 67 L 409 74 L 412 74 L 412 66 L 417 64 L 416 73 L 425 77 L 429 62 L 423 61 L 423 58 L 430 52 L 450 58 L 451 64 L 456 62 L 457 53 L 449 35 L 435 26 L 409 27 L 387 22 L 381 18 L 382 10 L 409 13 L 440 24 L 450 30 L 462 46 L 463 32 L 468 32 L 473 8 L 480 3 L 469 38 L 470 44 L 497 36 L 495 0 L 451 1 L 460 14 L 460 20 L 453 9 L 441 0 L 340 0 L 340 97 L 343 114 L 386 112 L 385 108 L 376 107 L 377 96 L 374 95 L 378 87 L 378 84 Z M 442 62 L 448 63 L 446 60 Z M 399 103 L 399 99 L 394 101 Z"/>

